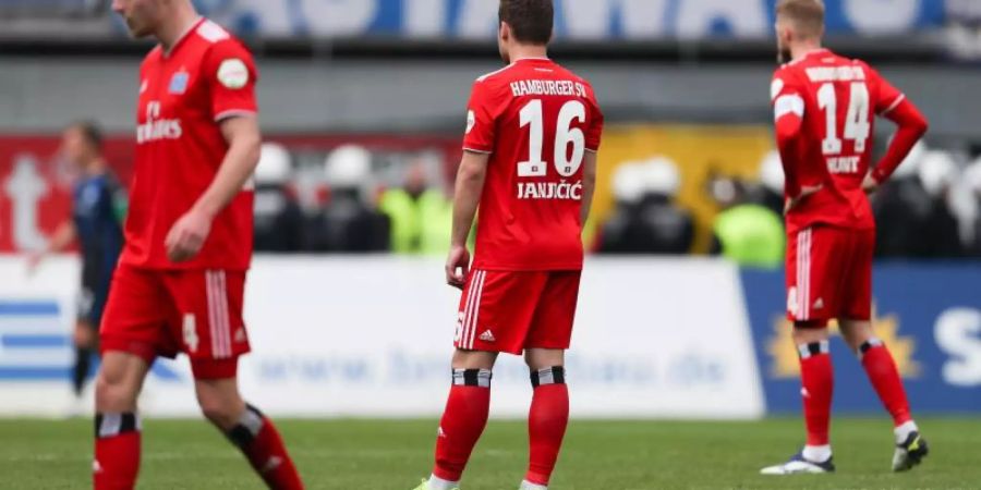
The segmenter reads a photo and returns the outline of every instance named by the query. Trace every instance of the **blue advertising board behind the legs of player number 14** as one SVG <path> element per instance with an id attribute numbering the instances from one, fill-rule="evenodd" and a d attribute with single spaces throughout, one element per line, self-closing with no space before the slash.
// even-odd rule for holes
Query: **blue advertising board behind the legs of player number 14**
<path id="1" fill-rule="evenodd" d="M 783 271 L 743 271 L 742 286 L 768 413 L 800 411 L 797 352 Z M 874 327 L 888 345 L 916 413 L 981 413 L 981 265 L 881 265 Z M 832 341 L 835 411 L 881 413 L 865 373 Z"/>

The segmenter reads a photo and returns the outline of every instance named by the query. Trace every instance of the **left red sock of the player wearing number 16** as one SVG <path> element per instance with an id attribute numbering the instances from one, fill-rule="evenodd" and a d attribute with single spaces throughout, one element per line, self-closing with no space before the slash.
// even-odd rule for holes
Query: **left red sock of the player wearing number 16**
<path id="1" fill-rule="evenodd" d="M 470 453 L 487 426 L 489 412 L 491 371 L 453 369 L 453 385 L 439 421 L 433 475 L 448 481 L 460 481 Z"/>

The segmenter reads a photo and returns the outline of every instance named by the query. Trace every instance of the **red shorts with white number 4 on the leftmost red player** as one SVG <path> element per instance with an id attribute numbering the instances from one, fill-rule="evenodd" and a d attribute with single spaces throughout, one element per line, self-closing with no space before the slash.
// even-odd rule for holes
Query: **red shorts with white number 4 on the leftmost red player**
<path id="1" fill-rule="evenodd" d="M 99 329 L 100 348 L 153 363 L 191 357 L 199 379 L 232 378 L 249 352 L 242 321 L 245 272 L 161 271 L 120 265 Z"/>

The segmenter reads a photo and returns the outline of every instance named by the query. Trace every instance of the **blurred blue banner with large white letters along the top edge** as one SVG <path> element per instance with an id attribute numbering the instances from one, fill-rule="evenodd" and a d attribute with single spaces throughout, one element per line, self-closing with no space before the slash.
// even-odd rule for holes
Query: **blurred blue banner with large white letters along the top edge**
<path id="1" fill-rule="evenodd" d="M 11 1 L 11 0 L 0 0 Z M 244 36 L 492 39 L 494 0 L 195 0 Z M 776 0 L 555 0 L 559 39 L 767 38 Z M 825 0 L 831 34 L 941 26 L 943 0 Z M 122 26 L 120 25 L 120 28 Z"/>

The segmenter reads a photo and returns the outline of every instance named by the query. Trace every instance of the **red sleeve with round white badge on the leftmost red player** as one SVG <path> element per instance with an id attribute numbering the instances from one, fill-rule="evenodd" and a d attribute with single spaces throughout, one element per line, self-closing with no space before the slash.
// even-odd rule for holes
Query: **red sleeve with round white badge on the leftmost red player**
<path id="1" fill-rule="evenodd" d="M 205 59 L 204 76 L 208 79 L 215 121 L 258 112 L 255 61 L 238 41 L 227 40 L 211 47 Z"/>

